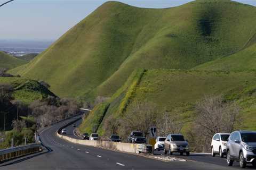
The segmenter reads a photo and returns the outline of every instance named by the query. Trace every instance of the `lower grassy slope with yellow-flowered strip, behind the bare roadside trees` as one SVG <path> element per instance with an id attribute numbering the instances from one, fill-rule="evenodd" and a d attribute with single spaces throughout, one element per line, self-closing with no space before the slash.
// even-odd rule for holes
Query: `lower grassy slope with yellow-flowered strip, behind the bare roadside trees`
<path id="1" fill-rule="evenodd" d="M 135 86 L 132 84 L 138 79 L 133 77 L 133 81 L 127 82 L 130 86 L 122 87 L 109 101 L 95 107 L 79 130 L 82 132 L 97 130 L 100 134 L 105 134 L 106 129 L 103 127 L 108 117 L 112 116 L 116 120 L 122 118 L 134 105 L 146 101 L 156 104 L 159 113 L 164 111 L 178 113 L 179 123 L 183 125 L 182 132 L 186 134 L 190 128 L 190 123 L 193 121 L 196 102 L 206 95 L 223 95 L 226 100 L 236 101 L 242 108 L 243 123 L 239 128 L 256 130 L 254 123 L 256 121 L 255 71 L 222 72 L 162 69 L 149 70 L 140 75 L 142 77 L 139 83 L 135 83 Z M 102 112 L 103 106 L 108 106 L 107 111 L 103 109 L 104 114 Z M 100 119 L 96 123 L 92 122 L 93 119 L 90 118 L 92 115 L 93 117 L 100 117 Z M 93 129 L 95 126 L 97 128 Z"/>

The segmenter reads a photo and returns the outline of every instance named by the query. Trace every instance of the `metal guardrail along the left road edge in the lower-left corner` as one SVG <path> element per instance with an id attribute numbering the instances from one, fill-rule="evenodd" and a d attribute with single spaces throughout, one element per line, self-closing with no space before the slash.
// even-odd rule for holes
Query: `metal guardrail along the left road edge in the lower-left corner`
<path id="1" fill-rule="evenodd" d="M 0 150 L 0 163 L 4 162 L 5 160 L 33 154 L 39 151 L 42 151 L 41 144 L 35 143 L 26 146 L 2 149 Z"/>

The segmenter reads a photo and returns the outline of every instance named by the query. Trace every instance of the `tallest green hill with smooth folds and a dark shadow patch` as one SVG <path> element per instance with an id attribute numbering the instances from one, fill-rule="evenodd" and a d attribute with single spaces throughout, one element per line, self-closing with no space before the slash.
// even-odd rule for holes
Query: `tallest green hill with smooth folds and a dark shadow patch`
<path id="1" fill-rule="evenodd" d="M 182 14 L 182 15 L 181 15 Z M 191 69 L 254 44 L 256 7 L 227 0 L 164 9 L 107 2 L 11 73 L 60 96 L 111 96 L 134 69 Z"/>

